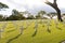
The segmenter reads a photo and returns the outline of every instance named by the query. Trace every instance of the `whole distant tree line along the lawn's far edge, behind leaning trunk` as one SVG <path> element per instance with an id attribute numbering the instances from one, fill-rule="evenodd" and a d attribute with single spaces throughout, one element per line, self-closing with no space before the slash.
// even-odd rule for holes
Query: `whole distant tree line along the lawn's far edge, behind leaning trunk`
<path id="1" fill-rule="evenodd" d="M 26 17 L 26 14 L 27 14 L 27 17 Z M 0 20 L 48 19 L 48 17 L 44 17 L 43 15 L 47 15 L 48 17 L 50 17 L 50 19 L 52 19 L 56 15 L 56 13 L 51 12 L 51 13 L 47 14 L 46 11 L 39 11 L 37 13 L 37 15 L 34 16 L 28 11 L 27 12 L 18 12 L 16 10 L 12 10 L 12 15 L 10 15 L 9 17 L 0 14 Z M 63 14 L 63 16 L 65 14 Z"/>

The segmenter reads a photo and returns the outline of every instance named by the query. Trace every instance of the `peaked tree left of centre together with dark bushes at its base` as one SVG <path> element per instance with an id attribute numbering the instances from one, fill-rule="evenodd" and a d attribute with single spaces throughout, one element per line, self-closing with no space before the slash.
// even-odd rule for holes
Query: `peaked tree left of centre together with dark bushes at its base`
<path id="1" fill-rule="evenodd" d="M 6 20 L 21 20 L 21 19 L 25 19 L 25 16 L 23 16 L 23 14 L 21 14 L 16 10 L 12 10 L 12 15 L 6 17 Z"/>

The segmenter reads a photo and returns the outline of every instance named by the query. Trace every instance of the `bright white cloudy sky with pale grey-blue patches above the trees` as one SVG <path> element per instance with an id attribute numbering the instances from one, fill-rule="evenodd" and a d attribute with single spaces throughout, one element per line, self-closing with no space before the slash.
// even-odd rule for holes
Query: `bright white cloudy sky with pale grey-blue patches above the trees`
<path id="1" fill-rule="evenodd" d="M 53 0 L 49 1 L 53 2 Z M 51 6 L 44 3 L 46 0 L 0 0 L 0 2 L 9 5 L 9 9 L 5 9 L 5 11 L 0 11 L 0 14 L 8 16 L 11 15 L 13 9 L 16 9 L 20 12 L 29 11 L 30 13 L 36 13 L 41 10 L 49 12 L 54 11 Z M 61 11 L 64 12 L 65 0 L 57 0 L 57 5 Z"/>

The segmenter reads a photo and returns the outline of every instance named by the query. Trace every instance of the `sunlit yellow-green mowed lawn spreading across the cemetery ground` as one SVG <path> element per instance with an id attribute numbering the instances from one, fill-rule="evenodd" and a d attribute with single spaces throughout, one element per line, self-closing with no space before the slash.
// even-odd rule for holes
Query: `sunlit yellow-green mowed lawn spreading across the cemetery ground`
<path id="1" fill-rule="evenodd" d="M 48 22 L 50 24 L 48 31 Z M 35 25 L 38 24 L 37 33 L 35 37 Z M 57 25 L 56 25 L 57 23 Z M 4 23 L 1 23 L 0 27 L 2 27 Z M 21 33 L 21 27 L 24 27 L 23 34 L 18 38 Z M 58 28 L 56 28 L 56 26 Z M 8 43 L 10 39 L 10 43 L 60 43 L 61 41 L 65 40 L 65 25 L 60 22 L 55 20 L 41 20 L 41 19 L 34 19 L 34 20 L 16 20 L 16 22 L 6 22 L 6 27 L 2 32 L 2 38 L 0 38 L 0 43 Z"/>

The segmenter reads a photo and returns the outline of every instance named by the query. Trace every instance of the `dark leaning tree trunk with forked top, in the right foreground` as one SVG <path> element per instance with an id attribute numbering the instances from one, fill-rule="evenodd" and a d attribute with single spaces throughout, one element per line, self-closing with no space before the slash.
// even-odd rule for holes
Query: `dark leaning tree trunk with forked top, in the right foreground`
<path id="1" fill-rule="evenodd" d="M 53 0 L 53 3 L 51 3 L 51 2 L 49 2 L 49 1 L 47 0 L 46 3 L 47 3 L 48 5 L 50 5 L 50 6 L 52 6 L 52 8 L 57 12 L 57 19 L 58 19 L 60 22 L 63 22 L 63 19 L 62 19 L 62 17 L 61 17 L 61 10 L 60 10 L 58 6 L 57 6 L 56 0 Z"/>

